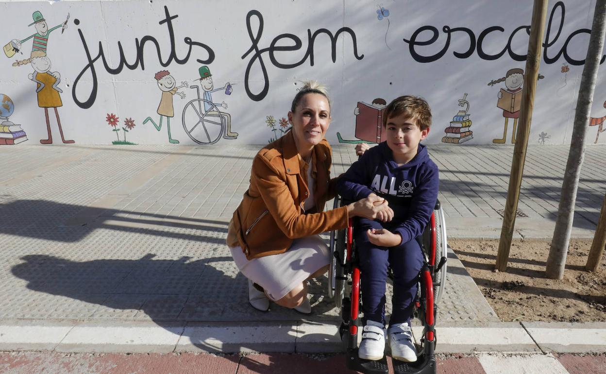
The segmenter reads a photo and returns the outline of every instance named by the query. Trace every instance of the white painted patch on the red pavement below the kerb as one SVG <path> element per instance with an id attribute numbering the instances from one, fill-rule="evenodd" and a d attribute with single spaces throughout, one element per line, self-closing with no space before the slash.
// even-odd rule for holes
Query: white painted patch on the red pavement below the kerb
<path id="1" fill-rule="evenodd" d="M 552 355 L 482 355 L 478 360 L 486 374 L 568 374 Z"/>

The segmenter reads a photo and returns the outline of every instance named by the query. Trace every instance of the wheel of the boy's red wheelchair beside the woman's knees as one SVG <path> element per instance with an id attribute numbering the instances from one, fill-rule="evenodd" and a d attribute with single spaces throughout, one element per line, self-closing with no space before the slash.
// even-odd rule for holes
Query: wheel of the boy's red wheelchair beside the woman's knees
<path id="1" fill-rule="evenodd" d="M 335 197 L 333 208 L 341 204 L 341 198 Z M 345 295 L 345 230 L 330 232 L 330 268 L 328 268 L 328 297 L 335 299 L 335 306 L 339 309 L 343 306 Z"/>

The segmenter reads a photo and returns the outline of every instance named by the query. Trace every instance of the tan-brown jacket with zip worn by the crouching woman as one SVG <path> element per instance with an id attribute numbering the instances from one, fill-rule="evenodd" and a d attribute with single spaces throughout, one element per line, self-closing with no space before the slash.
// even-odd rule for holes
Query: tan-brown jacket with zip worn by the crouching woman
<path id="1" fill-rule="evenodd" d="M 293 132 L 260 150 L 253 160 L 250 186 L 231 218 L 227 245 L 239 245 L 247 259 L 284 253 L 293 239 L 347 227 L 347 207 L 324 210 L 335 196 L 336 178 L 330 179 L 332 150 L 323 139 L 313 147 L 316 169 L 315 209 L 305 212 L 309 196 Z"/>

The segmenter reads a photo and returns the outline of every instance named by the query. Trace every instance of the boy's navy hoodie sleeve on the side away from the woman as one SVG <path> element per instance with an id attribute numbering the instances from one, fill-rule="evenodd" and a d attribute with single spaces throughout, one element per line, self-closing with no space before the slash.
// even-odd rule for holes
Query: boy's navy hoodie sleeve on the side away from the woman
<path id="1" fill-rule="evenodd" d="M 400 245 L 423 233 L 436 206 L 439 185 L 438 167 L 433 165 L 421 179 L 421 185 L 416 187 L 415 193 L 413 193 L 408 218 L 394 230 L 394 233 L 402 236 Z"/>

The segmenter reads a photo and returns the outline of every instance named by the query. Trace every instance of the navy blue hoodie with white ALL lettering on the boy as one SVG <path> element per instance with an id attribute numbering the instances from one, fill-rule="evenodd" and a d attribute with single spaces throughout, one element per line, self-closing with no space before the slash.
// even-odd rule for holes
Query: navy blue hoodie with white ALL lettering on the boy
<path id="1" fill-rule="evenodd" d="M 345 200 L 358 201 L 375 193 L 387 199 L 393 221 L 385 229 L 402 235 L 402 244 L 423 233 L 438 199 L 438 166 L 425 145 L 417 155 L 398 166 L 387 142 L 367 150 L 339 178 L 337 192 Z"/>

